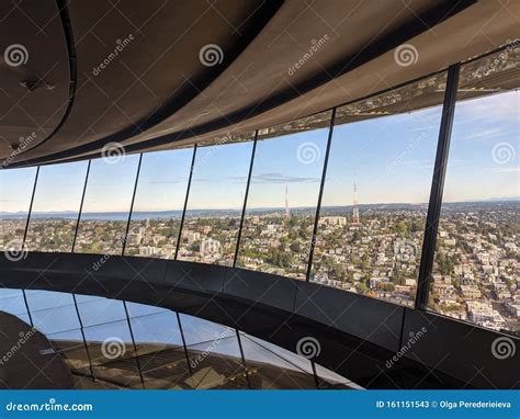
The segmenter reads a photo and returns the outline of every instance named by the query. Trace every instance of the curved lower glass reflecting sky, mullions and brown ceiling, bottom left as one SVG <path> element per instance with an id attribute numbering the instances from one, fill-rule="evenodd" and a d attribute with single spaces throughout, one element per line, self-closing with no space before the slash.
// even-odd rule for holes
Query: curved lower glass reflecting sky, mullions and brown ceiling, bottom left
<path id="1" fill-rule="evenodd" d="M 309 360 L 213 321 L 90 295 L 27 290 L 26 299 L 75 388 L 316 388 Z M 24 307 L 21 290 L 0 288 L 1 310 L 29 322 Z M 355 387 L 315 366 L 320 387 Z"/>

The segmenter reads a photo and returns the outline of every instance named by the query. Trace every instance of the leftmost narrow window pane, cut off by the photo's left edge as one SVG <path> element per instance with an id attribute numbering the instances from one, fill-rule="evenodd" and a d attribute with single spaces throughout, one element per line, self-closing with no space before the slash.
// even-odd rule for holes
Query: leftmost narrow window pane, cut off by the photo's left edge
<path id="1" fill-rule="evenodd" d="M 0 170 L 0 247 L 22 249 L 36 168 Z"/>

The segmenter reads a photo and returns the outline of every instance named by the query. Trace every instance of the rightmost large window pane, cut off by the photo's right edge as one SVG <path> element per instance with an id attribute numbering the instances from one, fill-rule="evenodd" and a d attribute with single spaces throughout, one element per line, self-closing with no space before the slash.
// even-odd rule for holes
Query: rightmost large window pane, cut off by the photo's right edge
<path id="1" fill-rule="evenodd" d="M 429 307 L 520 331 L 520 48 L 461 67 Z"/>

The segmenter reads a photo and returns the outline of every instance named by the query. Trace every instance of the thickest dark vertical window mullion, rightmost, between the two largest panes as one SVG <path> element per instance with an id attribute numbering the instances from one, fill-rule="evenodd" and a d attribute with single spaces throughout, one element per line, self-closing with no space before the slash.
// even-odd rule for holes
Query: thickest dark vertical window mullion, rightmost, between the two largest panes
<path id="1" fill-rule="evenodd" d="M 439 141 L 437 145 L 436 166 L 431 183 L 430 201 L 425 227 L 425 239 L 422 242 L 422 254 L 417 283 L 417 295 L 415 307 L 426 309 L 430 292 L 431 272 L 437 245 L 437 230 L 441 214 L 442 192 L 448 166 L 450 150 L 450 138 L 455 113 L 456 91 L 459 86 L 460 64 L 450 66 L 448 69 L 446 89 L 442 105 L 442 118 L 439 129 Z"/>

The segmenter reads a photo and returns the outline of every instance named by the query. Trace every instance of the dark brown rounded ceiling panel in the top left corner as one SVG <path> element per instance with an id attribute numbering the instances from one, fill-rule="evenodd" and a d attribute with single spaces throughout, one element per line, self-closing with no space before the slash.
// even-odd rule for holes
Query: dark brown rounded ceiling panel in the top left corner
<path id="1" fill-rule="evenodd" d="M 0 158 L 7 159 L 34 148 L 60 124 L 70 63 L 56 2 L 0 2 Z"/>

